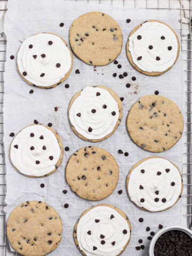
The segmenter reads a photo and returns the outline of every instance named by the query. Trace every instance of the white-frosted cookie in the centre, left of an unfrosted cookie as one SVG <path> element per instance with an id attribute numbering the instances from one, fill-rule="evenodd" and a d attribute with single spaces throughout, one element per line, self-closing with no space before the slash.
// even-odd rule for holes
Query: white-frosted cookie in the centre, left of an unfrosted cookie
<path id="1" fill-rule="evenodd" d="M 118 95 L 105 86 L 86 86 L 69 104 L 69 121 L 83 140 L 102 141 L 117 129 L 123 116 Z"/>

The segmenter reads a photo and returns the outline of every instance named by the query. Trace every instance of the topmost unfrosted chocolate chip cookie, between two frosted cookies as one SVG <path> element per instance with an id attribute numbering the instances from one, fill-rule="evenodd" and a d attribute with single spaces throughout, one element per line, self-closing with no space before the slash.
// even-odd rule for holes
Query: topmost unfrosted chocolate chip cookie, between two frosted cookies
<path id="1" fill-rule="evenodd" d="M 122 50 L 123 36 L 117 22 L 102 12 L 79 16 L 69 31 L 70 45 L 77 57 L 93 66 L 105 66 Z"/>

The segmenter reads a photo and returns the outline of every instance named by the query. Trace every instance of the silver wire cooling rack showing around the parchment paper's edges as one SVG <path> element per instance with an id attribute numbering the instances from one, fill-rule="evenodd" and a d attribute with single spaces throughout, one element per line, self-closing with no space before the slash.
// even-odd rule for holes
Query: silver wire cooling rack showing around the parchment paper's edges
<path id="1" fill-rule="evenodd" d="M 7 2 L 8 0 L 0 0 Z M 185 130 L 185 152 L 183 153 L 182 178 L 184 190 L 182 195 L 183 206 L 183 225 L 192 229 L 192 0 L 71 0 L 75 2 L 94 2 L 107 3 L 111 5 L 123 4 L 129 8 L 145 8 L 174 10 L 180 13 L 180 42 L 185 63 L 185 84 L 183 90 L 186 91 L 186 130 Z M 4 5 L 6 6 L 6 5 Z M 6 7 L 0 8 L 0 14 L 6 12 Z M 186 26 L 186 18 L 189 19 L 189 25 Z M 189 34 L 185 33 L 185 27 L 189 29 Z M 188 35 L 185 35 L 188 34 Z M 4 95 L 4 63 L 6 61 L 6 37 L 0 34 L 0 255 L 1 256 L 19 256 L 17 252 L 10 252 L 6 237 L 5 212 L 5 194 L 6 194 L 6 169 L 3 146 L 3 95 Z M 182 153 L 181 153 L 182 154 Z M 3 234 L 3 236 L 1 236 Z"/>

